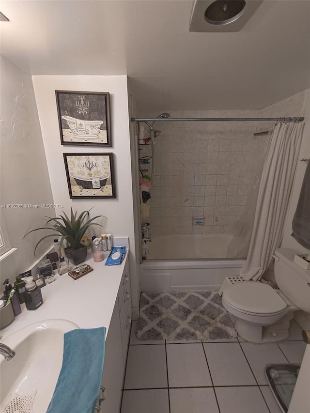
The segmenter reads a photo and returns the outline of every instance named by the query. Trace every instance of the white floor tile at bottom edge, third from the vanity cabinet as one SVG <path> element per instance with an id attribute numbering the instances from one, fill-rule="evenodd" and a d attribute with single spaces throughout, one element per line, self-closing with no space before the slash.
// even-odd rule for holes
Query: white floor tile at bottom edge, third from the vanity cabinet
<path id="1" fill-rule="evenodd" d="M 221 413 L 269 413 L 263 396 L 255 387 L 216 387 Z"/>

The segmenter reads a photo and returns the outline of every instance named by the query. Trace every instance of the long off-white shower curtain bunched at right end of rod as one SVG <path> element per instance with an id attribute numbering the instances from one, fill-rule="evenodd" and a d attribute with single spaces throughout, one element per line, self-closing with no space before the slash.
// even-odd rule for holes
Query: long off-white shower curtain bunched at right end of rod
<path id="1" fill-rule="evenodd" d="M 276 123 L 273 128 L 258 193 L 248 258 L 241 270 L 247 280 L 259 280 L 283 236 L 303 123 Z"/>

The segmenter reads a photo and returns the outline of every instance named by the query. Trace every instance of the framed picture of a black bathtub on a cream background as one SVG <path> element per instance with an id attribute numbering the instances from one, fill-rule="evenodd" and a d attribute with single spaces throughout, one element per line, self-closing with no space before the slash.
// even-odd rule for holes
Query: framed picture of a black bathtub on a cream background
<path id="1" fill-rule="evenodd" d="M 116 198 L 113 153 L 64 153 L 71 199 Z"/>

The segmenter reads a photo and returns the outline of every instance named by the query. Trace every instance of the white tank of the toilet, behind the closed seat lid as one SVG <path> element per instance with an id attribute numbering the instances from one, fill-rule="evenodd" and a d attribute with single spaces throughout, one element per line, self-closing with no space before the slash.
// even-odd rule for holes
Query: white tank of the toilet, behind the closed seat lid
<path id="1" fill-rule="evenodd" d="M 276 282 L 279 289 L 295 306 L 310 313 L 310 270 L 305 270 L 294 261 L 295 254 L 300 253 L 289 248 L 276 250 L 274 255 Z"/>

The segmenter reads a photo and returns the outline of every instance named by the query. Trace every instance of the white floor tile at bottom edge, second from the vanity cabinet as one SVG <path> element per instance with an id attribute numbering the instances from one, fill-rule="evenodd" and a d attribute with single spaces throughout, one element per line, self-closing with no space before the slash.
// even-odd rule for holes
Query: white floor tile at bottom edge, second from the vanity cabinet
<path id="1" fill-rule="evenodd" d="M 219 413 L 213 388 L 170 389 L 171 413 Z"/>

